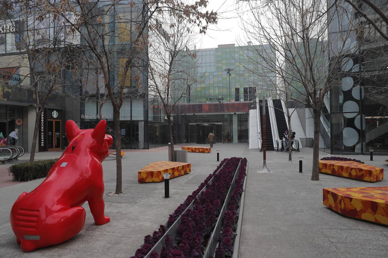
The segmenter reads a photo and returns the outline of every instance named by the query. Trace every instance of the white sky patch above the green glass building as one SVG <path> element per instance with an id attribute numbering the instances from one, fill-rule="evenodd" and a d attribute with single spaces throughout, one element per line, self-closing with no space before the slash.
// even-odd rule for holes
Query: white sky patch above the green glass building
<path id="1" fill-rule="evenodd" d="M 219 14 L 218 23 L 209 26 L 206 34 L 201 36 L 199 43 L 196 44 L 197 49 L 217 48 L 218 45 L 232 43 L 238 46 L 244 38 L 239 15 L 249 14 L 249 12 L 243 12 L 246 9 L 245 3 L 238 0 L 209 0 L 207 9 Z"/>

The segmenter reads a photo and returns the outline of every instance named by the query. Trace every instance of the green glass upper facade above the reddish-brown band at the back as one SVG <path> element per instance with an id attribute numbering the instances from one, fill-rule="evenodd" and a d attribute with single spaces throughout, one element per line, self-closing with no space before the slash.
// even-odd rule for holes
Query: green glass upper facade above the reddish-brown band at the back
<path id="1" fill-rule="evenodd" d="M 263 87 L 274 90 L 275 74 L 263 70 L 263 61 L 257 54 L 262 48 L 268 53 L 268 45 L 227 44 L 218 45 L 218 48 L 191 50 L 196 53 L 196 59 L 192 61 L 196 64 L 196 84 L 191 85 L 190 94 L 180 102 L 252 101 L 257 90 Z M 273 56 L 275 59 L 275 54 Z M 225 71 L 228 68 L 231 69 L 230 74 Z M 261 73 L 265 76 L 260 76 Z"/>

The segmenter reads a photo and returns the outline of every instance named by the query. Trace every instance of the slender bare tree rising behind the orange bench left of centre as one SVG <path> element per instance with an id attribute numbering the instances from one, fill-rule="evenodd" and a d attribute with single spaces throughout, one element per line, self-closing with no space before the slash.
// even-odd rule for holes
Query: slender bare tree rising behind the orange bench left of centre
<path id="1" fill-rule="evenodd" d="M 159 24 L 153 32 L 154 36 L 149 38 L 149 92 L 151 97 L 158 97 L 165 109 L 170 155 L 171 160 L 175 161 L 171 115 L 182 98 L 187 97 L 191 85 L 199 81 L 194 73 L 196 54 L 189 51 L 195 38 L 194 28 L 178 17 L 170 19 L 166 26 Z"/>

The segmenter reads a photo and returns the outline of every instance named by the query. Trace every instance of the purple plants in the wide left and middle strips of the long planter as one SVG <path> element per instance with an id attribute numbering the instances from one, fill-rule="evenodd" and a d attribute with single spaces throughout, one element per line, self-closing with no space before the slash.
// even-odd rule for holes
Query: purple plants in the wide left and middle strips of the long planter
<path id="1" fill-rule="evenodd" d="M 184 258 L 202 257 L 203 250 L 208 243 L 215 222 L 220 215 L 220 210 L 227 197 L 236 169 L 241 158 L 224 159 L 217 169 L 210 174 L 199 188 L 187 196 L 184 203 L 178 206 L 170 215 L 166 227 L 161 225 L 158 231 L 144 237 L 144 244 L 137 249 L 131 258 L 143 258 L 165 234 L 166 228 L 171 227 L 180 216 L 175 237 L 166 235 L 165 245 L 160 254 L 151 252 L 151 258 Z M 223 167 L 222 167 L 223 166 Z M 220 169 L 222 167 L 222 169 Z M 219 171 L 218 171 L 219 170 Z M 218 173 L 217 173 L 218 171 Z M 240 170 L 241 171 L 241 170 Z M 203 188 L 206 186 L 206 189 Z M 194 202 L 193 202 L 194 201 Z M 193 203 L 192 209 L 187 209 Z M 186 210 L 186 212 L 184 212 Z M 177 225 L 175 223 L 175 225 Z M 173 228 L 171 228 L 173 229 Z"/>

